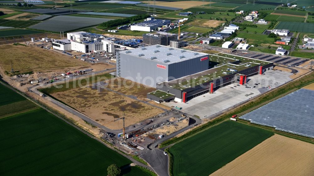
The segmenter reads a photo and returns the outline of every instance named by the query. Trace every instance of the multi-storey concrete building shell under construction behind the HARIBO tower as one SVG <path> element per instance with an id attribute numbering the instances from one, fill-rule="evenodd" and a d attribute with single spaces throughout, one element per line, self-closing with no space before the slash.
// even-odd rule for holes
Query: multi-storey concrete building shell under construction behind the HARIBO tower
<path id="1" fill-rule="evenodd" d="M 171 40 L 176 40 L 177 38 L 178 34 L 156 32 L 150 34 L 143 34 L 143 43 L 149 45 L 160 44 L 168 46 Z"/>

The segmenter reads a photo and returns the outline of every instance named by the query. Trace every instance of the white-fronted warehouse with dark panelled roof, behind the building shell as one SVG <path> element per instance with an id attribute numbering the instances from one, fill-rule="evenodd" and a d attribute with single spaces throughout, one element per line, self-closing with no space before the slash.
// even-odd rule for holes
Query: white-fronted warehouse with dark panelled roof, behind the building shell
<path id="1" fill-rule="evenodd" d="M 161 26 L 170 24 L 170 20 L 166 19 L 154 19 L 153 17 L 147 18 L 146 21 L 143 21 L 141 23 L 133 24 L 131 25 L 131 30 L 138 30 L 138 31 L 147 31 L 150 32 L 156 28 L 159 28 Z"/>

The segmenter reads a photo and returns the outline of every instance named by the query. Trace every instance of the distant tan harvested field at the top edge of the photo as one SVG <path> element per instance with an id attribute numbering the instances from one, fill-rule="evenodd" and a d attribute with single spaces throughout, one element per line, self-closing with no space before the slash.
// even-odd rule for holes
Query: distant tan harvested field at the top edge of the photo
<path id="1" fill-rule="evenodd" d="M 154 1 L 144 1 L 143 3 L 154 4 Z M 202 2 L 202 1 L 176 1 L 176 2 L 162 2 L 156 1 L 156 5 L 167 6 L 167 7 L 177 7 L 177 8 L 191 8 L 194 6 L 211 4 L 212 2 Z"/>

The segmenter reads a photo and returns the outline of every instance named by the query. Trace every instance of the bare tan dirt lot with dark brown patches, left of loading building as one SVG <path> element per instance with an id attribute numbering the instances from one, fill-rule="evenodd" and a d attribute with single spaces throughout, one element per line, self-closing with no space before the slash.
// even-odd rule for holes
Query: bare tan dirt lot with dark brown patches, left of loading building
<path id="1" fill-rule="evenodd" d="M 163 112 L 129 97 L 104 89 L 98 91 L 91 86 L 57 92 L 52 96 L 111 129 L 122 128 L 122 122 L 113 122 L 113 120 L 123 113 L 126 115 L 125 125 L 130 126 Z"/>

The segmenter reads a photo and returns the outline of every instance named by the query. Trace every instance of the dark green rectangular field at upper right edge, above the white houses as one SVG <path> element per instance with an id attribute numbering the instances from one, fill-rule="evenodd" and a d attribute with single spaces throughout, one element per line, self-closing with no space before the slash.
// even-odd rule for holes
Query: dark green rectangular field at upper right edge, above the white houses
<path id="1" fill-rule="evenodd" d="M 302 22 L 279 22 L 275 29 L 289 29 L 294 32 L 308 32 L 314 34 L 314 23 L 302 23 Z"/>

